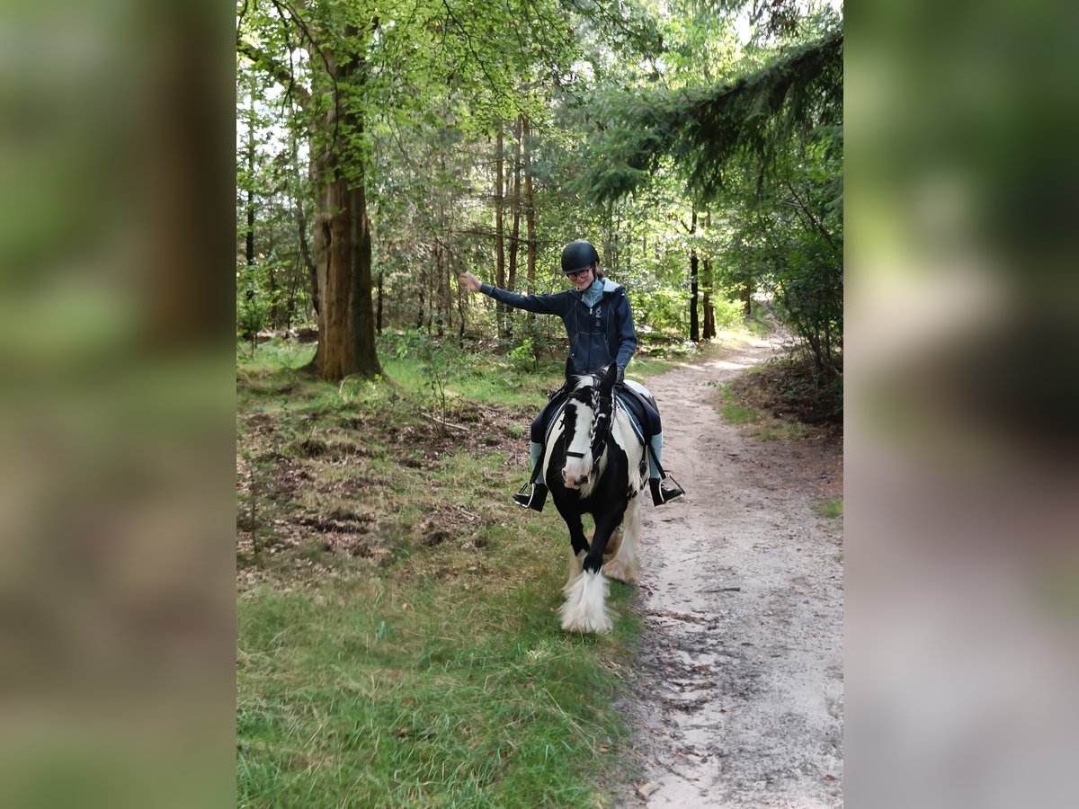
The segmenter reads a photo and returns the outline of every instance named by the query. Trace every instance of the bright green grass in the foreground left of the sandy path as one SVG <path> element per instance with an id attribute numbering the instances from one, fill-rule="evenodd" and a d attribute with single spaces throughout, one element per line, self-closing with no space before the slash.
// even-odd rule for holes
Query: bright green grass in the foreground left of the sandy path
<path id="1" fill-rule="evenodd" d="M 240 608 L 241 805 L 602 803 L 593 768 L 625 732 L 603 660 L 632 621 L 565 635 L 559 584 L 255 591 Z"/>

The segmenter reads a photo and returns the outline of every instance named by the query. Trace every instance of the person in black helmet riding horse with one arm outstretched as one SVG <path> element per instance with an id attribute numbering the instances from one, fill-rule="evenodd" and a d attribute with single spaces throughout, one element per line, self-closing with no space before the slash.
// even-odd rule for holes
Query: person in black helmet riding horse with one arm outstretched
<path id="1" fill-rule="evenodd" d="M 562 250 L 562 273 L 573 285 L 572 289 L 551 294 L 518 294 L 500 289 L 491 284 L 481 284 L 472 273 L 462 273 L 457 278 L 461 286 L 472 292 L 482 292 L 514 308 L 522 308 L 542 315 L 558 315 L 565 325 L 570 338 L 570 356 L 566 359 L 566 374 L 597 373 L 604 366 L 618 366 L 618 384 L 625 388 L 626 366 L 637 351 L 637 331 L 633 329 L 633 312 L 626 296 L 626 288 L 615 284 L 600 272 L 600 257 L 590 242 L 571 242 Z M 627 388 L 628 389 L 628 388 Z M 568 389 L 556 392 L 540 414 L 532 422 L 529 455 L 533 475 L 529 483 L 514 495 L 514 502 L 524 508 L 542 511 L 547 499 L 547 485 L 537 471 L 543 457 L 547 419 L 565 400 Z M 641 399 L 644 402 L 643 399 Z M 664 436 L 659 413 L 644 402 L 652 416 L 652 452 L 648 455 L 648 484 L 652 502 L 661 506 L 681 497 L 685 492 L 678 485 L 663 485 Z"/>

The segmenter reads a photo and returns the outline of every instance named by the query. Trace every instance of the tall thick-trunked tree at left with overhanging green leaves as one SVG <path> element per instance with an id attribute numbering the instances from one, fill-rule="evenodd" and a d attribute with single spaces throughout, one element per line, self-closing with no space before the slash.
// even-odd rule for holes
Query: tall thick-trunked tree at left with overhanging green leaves
<path id="1" fill-rule="evenodd" d="M 576 52 L 572 32 L 555 25 L 551 0 L 245 0 L 238 12 L 237 52 L 296 101 L 308 135 L 317 195 L 314 365 L 327 379 L 378 373 L 369 218 L 375 131 L 427 125 L 442 101 L 454 110 L 452 126 L 473 129 L 538 110 L 520 92 L 521 77 L 564 73 Z"/>

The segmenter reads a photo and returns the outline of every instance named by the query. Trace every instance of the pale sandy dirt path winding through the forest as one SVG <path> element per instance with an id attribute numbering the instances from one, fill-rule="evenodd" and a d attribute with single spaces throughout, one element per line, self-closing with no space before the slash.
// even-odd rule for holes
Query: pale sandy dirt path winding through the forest
<path id="1" fill-rule="evenodd" d="M 623 808 L 843 805 L 842 521 L 811 509 L 842 494 L 842 456 L 751 438 L 715 409 L 716 385 L 773 351 L 755 341 L 648 381 L 688 494 L 644 507 L 626 710 L 645 780 Z"/>

